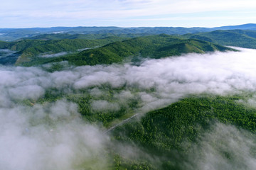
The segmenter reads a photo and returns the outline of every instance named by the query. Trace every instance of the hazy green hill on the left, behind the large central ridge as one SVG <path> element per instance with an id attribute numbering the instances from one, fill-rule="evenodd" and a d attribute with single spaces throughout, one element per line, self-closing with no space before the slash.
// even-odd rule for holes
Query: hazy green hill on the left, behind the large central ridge
<path id="1" fill-rule="evenodd" d="M 17 42 L 0 42 L 0 48 L 17 51 L 20 55 L 16 64 L 35 60 L 38 55 L 55 54 L 58 52 L 78 52 L 80 49 L 99 47 L 110 42 L 127 38 L 107 37 L 98 40 L 63 39 L 63 40 L 20 40 Z"/>

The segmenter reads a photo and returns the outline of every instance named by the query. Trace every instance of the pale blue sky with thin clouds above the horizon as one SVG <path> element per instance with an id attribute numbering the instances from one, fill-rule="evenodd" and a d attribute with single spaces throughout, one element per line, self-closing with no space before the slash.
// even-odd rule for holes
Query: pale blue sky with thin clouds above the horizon
<path id="1" fill-rule="evenodd" d="M 215 27 L 255 21 L 255 0 L 6 0 L 0 3 L 0 28 Z"/>

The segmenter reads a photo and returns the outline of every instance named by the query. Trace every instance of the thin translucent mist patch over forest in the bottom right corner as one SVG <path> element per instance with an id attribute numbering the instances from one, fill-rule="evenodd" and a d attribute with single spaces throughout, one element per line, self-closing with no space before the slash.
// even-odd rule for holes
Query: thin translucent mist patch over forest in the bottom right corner
<path id="1" fill-rule="evenodd" d="M 216 123 L 193 145 L 183 169 L 255 169 L 256 139 L 231 125 Z"/>

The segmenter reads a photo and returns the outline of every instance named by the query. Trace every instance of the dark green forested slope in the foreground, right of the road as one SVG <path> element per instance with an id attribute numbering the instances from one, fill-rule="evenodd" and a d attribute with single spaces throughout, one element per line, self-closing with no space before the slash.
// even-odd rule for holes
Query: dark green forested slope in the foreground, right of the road
<path id="1" fill-rule="evenodd" d="M 197 152 L 192 146 L 196 145 L 198 137 L 210 133 L 215 123 L 235 125 L 255 136 L 256 109 L 238 103 L 239 99 L 238 96 L 184 98 L 166 108 L 147 113 L 139 121 L 117 127 L 113 132 L 114 138 L 124 143 L 134 143 L 143 148 L 146 154 L 157 157 L 161 162 L 157 169 L 183 169 L 188 154 Z M 254 149 L 252 154 L 256 155 Z M 224 159 L 233 161 L 232 151 L 222 152 Z M 149 167 L 156 165 L 146 157 L 140 159 L 141 163 L 146 161 Z M 127 159 L 120 158 L 119 162 L 125 165 Z"/>

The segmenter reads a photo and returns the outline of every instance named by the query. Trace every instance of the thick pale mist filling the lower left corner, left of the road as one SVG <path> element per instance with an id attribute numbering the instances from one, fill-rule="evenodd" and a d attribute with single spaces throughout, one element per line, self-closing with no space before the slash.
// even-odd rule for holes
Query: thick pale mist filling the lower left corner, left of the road
<path id="1" fill-rule="evenodd" d="M 77 110 L 67 101 L 1 107 L 0 168 L 70 170 L 86 163 L 88 169 L 104 169 L 108 138 L 82 122 Z"/>

